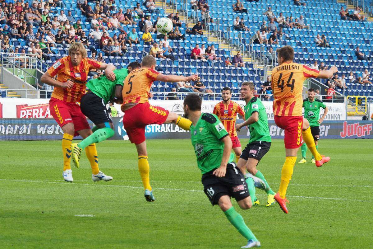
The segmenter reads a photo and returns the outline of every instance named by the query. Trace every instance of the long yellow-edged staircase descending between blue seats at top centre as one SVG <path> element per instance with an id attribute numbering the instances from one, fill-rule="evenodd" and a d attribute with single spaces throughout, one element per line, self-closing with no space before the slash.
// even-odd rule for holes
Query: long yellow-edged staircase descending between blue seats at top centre
<path id="1" fill-rule="evenodd" d="M 167 7 L 169 7 L 165 11 L 166 15 L 169 15 L 170 13 L 179 12 L 180 20 L 184 20 L 184 15 L 182 15 L 183 13 L 180 10 L 177 10 L 176 7 L 171 2 L 166 3 L 166 4 L 167 4 Z M 162 1 L 156 1 L 156 6 L 159 8 L 162 8 L 163 7 Z M 192 28 L 195 25 L 195 23 L 191 22 L 192 18 L 189 18 L 188 16 L 186 16 L 185 19 L 186 19 L 186 22 L 189 24 L 190 28 Z M 208 30 L 206 32 L 204 31 L 204 36 L 208 38 L 209 43 L 219 43 L 218 38 L 215 37 L 216 34 L 214 34 L 214 32 L 211 30 Z M 235 46 L 230 48 L 228 41 L 225 38 L 223 38 L 221 43 L 219 44 L 219 49 L 229 49 L 231 51 L 231 55 L 236 55 L 239 52 L 239 50 Z M 224 58 L 222 58 L 222 60 L 224 60 Z M 244 56 L 243 60 L 244 62 L 252 62 L 251 58 L 247 56 Z"/>

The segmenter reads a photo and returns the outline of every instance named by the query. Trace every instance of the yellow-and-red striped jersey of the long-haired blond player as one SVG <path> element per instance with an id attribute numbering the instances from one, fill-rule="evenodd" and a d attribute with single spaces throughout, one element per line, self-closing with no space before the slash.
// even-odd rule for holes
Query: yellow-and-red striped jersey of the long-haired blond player
<path id="1" fill-rule="evenodd" d="M 78 66 L 73 66 L 70 56 L 63 57 L 57 60 L 48 70 L 51 77 L 57 75 L 57 81 L 66 82 L 68 80 L 74 83 L 73 87 L 62 88 L 54 87 L 53 98 L 63 100 L 69 103 L 80 102 L 85 94 L 85 84 L 87 83 L 88 72 L 91 69 L 100 69 L 101 62 L 89 58 L 83 58 Z"/>

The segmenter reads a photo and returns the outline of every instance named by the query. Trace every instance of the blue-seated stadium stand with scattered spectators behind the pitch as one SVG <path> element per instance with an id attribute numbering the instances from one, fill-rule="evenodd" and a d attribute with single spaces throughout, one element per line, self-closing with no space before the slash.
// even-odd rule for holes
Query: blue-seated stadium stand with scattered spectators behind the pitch
<path id="1" fill-rule="evenodd" d="M 103 53 L 101 60 L 106 63 L 112 63 L 117 68 L 125 67 L 135 60 L 140 62 L 142 56 L 148 54 L 152 47 L 151 45 L 144 44 L 144 40 L 142 39 L 144 29 L 140 27 L 143 27 L 146 21 L 142 21 L 141 17 L 144 16 L 145 19 L 147 19 L 146 17 L 150 16 L 150 20 L 147 19 L 147 21 L 151 21 L 154 24 L 159 16 L 163 17 L 168 16 L 170 13 L 176 14 L 176 12 L 179 12 L 181 25 L 175 26 L 179 26 L 178 28 L 182 35 L 178 36 L 178 38 L 184 38 L 184 40 L 169 41 L 170 47 L 172 48 L 169 55 L 173 56 L 175 60 L 167 58 L 157 59 L 157 70 L 165 74 L 188 75 L 197 73 L 201 77 L 201 82 L 215 93 L 219 93 L 220 89 L 225 86 L 231 87 L 233 93 L 238 93 L 238 85 L 243 81 L 252 81 L 256 84 L 257 90 L 259 91 L 261 89 L 260 85 L 265 81 L 264 79 L 270 75 L 270 69 L 273 64 L 276 63 L 275 54 L 273 54 L 274 56 L 272 56 L 272 54 L 269 56 L 267 51 L 269 51 L 270 47 L 276 50 L 278 47 L 290 45 L 294 47 L 295 61 L 298 63 L 311 65 L 314 60 L 317 60 L 319 65 L 320 62 L 324 62 L 327 67 L 330 65 L 338 66 L 340 70 L 338 76 L 340 77 L 342 74 L 347 76 L 345 78 L 345 83 L 348 87 L 348 89 L 345 90 L 337 88 L 336 91 L 339 93 L 345 96 L 363 95 L 367 96 L 370 100 L 373 99 L 373 86 L 371 84 L 360 84 L 358 81 L 352 82 L 348 78 L 350 72 L 353 72 L 353 74 L 357 76 L 356 78 L 358 78 L 363 74 L 365 69 L 372 70 L 373 68 L 373 23 L 370 22 L 372 18 L 365 18 L 369 20 L 364 22 L 341 20 L 339 13 L 341 7 L 344 7 L 344 9 L 348 7 L 350 15 L 353 15 L 354 6 L 347 6 L 344 1 L 339 3 L 337 0 L 330 0 L 325 3 L 325 1 L 322 0 L 307 0 L 305 1 L 306 6 L 296 6 L 292 0 L 245 1 L 242 3 L 244 4 L 244 9 L 248 10 L 247 13 L 233 11 L 232 5 L 236 3 L 236 0 L 201 1 L 201 3 L 206 2 L 206 4 L 208 4 L 208 8 L 207 6 L 205 6 L 205 8 L 209 9 L 209 12 L 204 12 L 203 7 L 201 7 L 201 9 L 194 7 L 193 5 L 195 5 L 196 2 L 194 0 L 191 1 L 192 4 L 189 2 L 179 2 L 178 0 L 170 1 L 170 3 L 156 1 L 156 9 L 151 7 L 150 10 L 147 9 L 146 2 L 138 3 L 132 0 L 109 0 L 105 6 L 102 6 L 103 1 L 101 1 L 100 7 L 100 4 L 97 5 L 92 1 L 88 1 L 87 6 L 91 6 L 92 13 L 95 13 L 97 9 L 96 17 L 94 17 L 95 14 L 89 14 L 90 10 L 88 10 L 88 7 L 85 9 L 85 3 L 81 0 L 75 3 L 67 0 L 57 2 L 49 1 L 52 2 L 49 7 L 48 4 L 46 4 L 46 6 L 40 6 L 40 8 L 39 6 L 35 8 L 32 5 L 33 2 L 36 1 L 25 1 L 26 6 L 22 8 L 17 1 L 15 1 L 14 4 L 11 3 L 11 1 L 1 1 L 3 10 L 0 11 L 0 32 L 4 36 L 9 36 L 10 38 L 9 45 L 7 45 L 6 41 L 4 41 L 5 38 L 1 39 L 0 37 L 1 50 L 4 52 L 2 57 L 8 56 L 9 60 L 9 54 L 13 53 L 13 49 L 23 48 L 30 53 L 34 53 L 38 59 L 43 60 L 43 62 L 42 60 L 37 60 L 37 62 L 33 63 L 28 63 L 25 61 L 26 59 L 23 61 L 18 60 L 19 65 L 21 66 L 22 64 L 21 68 L 40 68 L 41 71 L 46 71 L 48 66 L 51 66 L 56 60 L 68 54 L 68 43 L 72 41 L 84 41 L 87 39 L 89 41 L 89 46 L 87 46 L 88 56 L 91 56 L 93 52 L 95 55 L 99 55 L 103 53 L 100 40 L 104 43 L 107 42 L 107 39 L 100 39 L 100 32 L 106 31 L 108 37 L 111 39 L 118 38 L 120 34 L 122 34 L 122 36 L 125 35 L 125 39 L 127 39 L 128 34 L 132 32 L 133 28 L 135 28 L 138 36 L 138 44 L 132 43 L 131 47 L 129 44 L 126 44 L 126 42 L 120 43 L 119 49 L 123 52 L 122 56 L 106 56 L 105 53 Z M 365 1 L 365 3 L 367 6 L 373 5 L 373 1 L 371 0 Z M 82 4 L 83 10 L 85 9 L 87 14 L 84 14 L 82 10 L 79 9 L 78 4 L 79 6 Z M 29 19 L 31 15 L 31 13 L 26 13 L 29 12 L 29 10 L 26 10 L 28 6 L 31 6 L 31 11 L 36 18 L 33 21 L 28 21 L 27 26 L 29 23 L 34 24 L 34 26 L 28 26 L 26 29 L 30 34 L 23 35 L 22 20 Z M 280 29 L 278 23 L 275 22 L 279 31 L 277 35 L 278 44 L 263 45 L 253 43 L 251 39 L 256 31 L 260 29 L 263 21 L 268 21 L 264 12 L 267 11 L 269 6 L 272 7 L 273 14 L 276 17 L 282 12 L 285 18 L 292 16 L 293 22 L 296 18 L 299 19 L 300 16 L 303 15 L 305 25 L 308 25 L 309 28 L 289 28 L 282 25 Z M 133 9 L 134 7 L 141 8 L 142 10 L 136 11 Z M 10 9 L 8 10 L 8 8 Z M 132 24 L 128 24 L 125 18 L 126 15 L 116 16 L 120 25 L 122 25 L 121 27 L 117 27 L 116 20 L 112 21 L 112 19 L 109 19 L 112 18 L 113 13 L 120 12 L 120 9 L 123 10 L 123 13 L 126 13 L 127 9 L 130 9 L 129 12 L 132 13 L 134 19 L 131 21 Z M 47 10 L 48 19 L 46 15 L 43 15 L 44 10 Z M 63 10 L 66 16 L 61 15 L 60 10 Z M 201 10 L 203 10 L 203 12 L 201 12 Z M 367 13 L 364 13 L 364 15 L 366 17 L 371 16 L 372 13 L 370 10 L 372 10 L 372 8 L 366 8 L 366 10 Z M 11 14 L 13 11 L 16 14 L 15 16 Z M 71 15 L 69 15 L 69 12 L 71 12 Z M 363 13 L 360 14 L 363 15 Z M 48 20 L 53 20 L 54 16 L 57 16 L 57 20 L 61 22 L 57 21 L 55 24 L 59 25 L 53 28 L 51 25 L 53 21 L 49 24 Z M 2 17 L 4 19 L 2 19 Z M 235 30 L 233 22 L 236 17 L 239 17 L 239 19 L 243 18 L 245 27 L 250 29 L 250 31 Z M 70 21 L 63 22 L 65 19 Z M 93 20 L 90 21 L 91 19 Z M 41 21 L 46 21 L 46 23 L 42 23 Z M 113 23 L 115 22 L 115 24 L 110 23 L 110 21 Z M 197 21 L 208 24 L 204 27 L 203 35 L 193 35 L 190 32 L 191 27 L 193 27 Z M 16 24 L 18 29 L 13 29 L 13 26 L 11 26 L 12 29 L 10 29 L 10 25 L 13 24 Z M 70 26 L 71 28 L 69 28 Z M 79 26 L 81 26 L 82 29 L 79 29 Z M 94 29 L 96 26 L 98 30 Z M 48 29 L 52 31 L 52 35 L 57 35 L 57 38 L 55 38 L 57 42 L 50 36 L 47 36 Z M 62 30 L 62 35 L 65 32 L 66 37 L 60 37 L 59 29 Z M 81 37 L 83 31 L 87 38 Z M 17 32 L 19 35 L 17 35 Z M 44 32 L 46 33 L 45 37 Z M 71 33 L 70 36 L 69 32 Z M 41 35 L 38 33 L 41 33 Z M 155 42 L 158 43 L 162 40 L 158 39 L 160 36 L 157 38 L 157 34 L 151 34 Z M 314 42 L 317 34 L 325 35 L 330 47 L 317 47 L 317 44 Z M 94 35 L 94 38 L 92 35 Z M 270 37 L 268 33 L 265 35 L 267 39 Z M 32 52 L 33 49 L 31 48 L 30 39 L 35 39 L 34 44 L 36 46 L 46 46 L 42 49 L 43 53 L 38 53 L 37 50 Z M 60 42 L 61 40 L 63 40 L 63 42 Z M 88 45 L 88 43 L 86 44 Z M 201 44 L 206 44 L 206 48 L 207 46 L 213 45 L 216 49 L 216 56 L 210 58 L 221 57 L 222 60 L 191 59 L 191 50 L 196 44 L 199 44 L 200 47 Z M 361 58 L 358 59 L 355 54 L 357 47 L 359 47 L 360 51 L 366 56 L 363 60 L 361 60 Z M 232 59 L 238 52 L 241 52 L 243 56 L 245 62 L 244 66 L 238 68 L 226 66 L 225 58 Z M 273 61 L 271 58 L 273 58 Z M 94 74 L 95 73 L 90 74 L 90 77 L 94 77 Z M 324 84 L 327 85 L 326 81 Z M 153 98 L 164 99 L 166 94 L 159 93 L 171 92 L 171 88 L 174 86 L 176 86 L 176 84 L 171 85 L 163 82 L 155 82 L 152 88 L 152 92 L 154 93 Z M 40 88 L 40 86 L 36 84 L 35 87 Z M 12 89 L 12 85 L 0 84 L 0 91 L 2 91 L 1 97 L 18 97 L 16 92 L 7 92 L 6 94 L 6 88 Z M 206 94 L 204 98 L 209 99 L 211 95 Z"/>

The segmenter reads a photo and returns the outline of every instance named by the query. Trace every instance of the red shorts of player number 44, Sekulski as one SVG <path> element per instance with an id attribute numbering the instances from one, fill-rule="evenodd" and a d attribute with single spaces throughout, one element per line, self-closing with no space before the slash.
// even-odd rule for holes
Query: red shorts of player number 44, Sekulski
<path id="1" fill-rule="evenodd" d="M 286 149 L 296 149 L 303 144 L 303 116 L 275 116 L 275 123 L 285 130 L 283 141 Z"/>

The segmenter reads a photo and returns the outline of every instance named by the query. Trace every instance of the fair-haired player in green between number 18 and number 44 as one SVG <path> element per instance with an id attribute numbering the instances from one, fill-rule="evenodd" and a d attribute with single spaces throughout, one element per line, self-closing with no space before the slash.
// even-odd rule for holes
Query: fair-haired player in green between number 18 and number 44
<path id="1" fill-rule="evenodd" d="M 251 82 L 244 82 L 241 85 L 241 99 L 245 100 L 245 119 L 241 124 L 236 124 L 236 129 L 239 131 L 242 127 L 249 125 L 250 140 L 246 148 L 238 160 L 237 167 L 242 172 L 246 170 L 249 174 L 245 174 L 246 182 L 254 182 L 254 185 L 263 189 L 268 194 L 267 207 L 275 203 L 273 197 L 275 192 L 269 187 L 264 175 L 257 170 L 257 165 L 261 158 L 269 151 L 271 147 L 271 136 L 269 135 L 268 119 L 266 108 L 261 103 L 261 100 L 254 97 L 255 86 Z M 261 181 L 258 181 L 259 178 Z M 254 205 L 259 205 L 259 200 L 255 197 L 255 188 L 251 189 L 251 184 L 248 183 L 251 200 Z"/>

